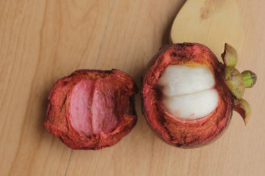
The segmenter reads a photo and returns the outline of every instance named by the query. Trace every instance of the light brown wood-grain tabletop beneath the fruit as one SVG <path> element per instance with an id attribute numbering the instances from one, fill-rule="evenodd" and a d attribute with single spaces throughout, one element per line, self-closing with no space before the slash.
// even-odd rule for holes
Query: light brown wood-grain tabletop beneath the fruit
<path id="1" fill-rule="evenodd" d="M 100 151 L 75 151 L 43 126 L 56 79 L 79 68 L 128 72 L 139 85 L 144 67 L 169 38 L 184 1 L 1 0 L 0 175 L 264 175 L 265 1 L 239 0 L 245 38 L 239 70 L 257 84 L 246 90 L 252 120 L 234 113 L 225 134 L 205 147 L 169 146 L 138 123 Z M 209 39 L 210 40 L 210 39 Z"/>

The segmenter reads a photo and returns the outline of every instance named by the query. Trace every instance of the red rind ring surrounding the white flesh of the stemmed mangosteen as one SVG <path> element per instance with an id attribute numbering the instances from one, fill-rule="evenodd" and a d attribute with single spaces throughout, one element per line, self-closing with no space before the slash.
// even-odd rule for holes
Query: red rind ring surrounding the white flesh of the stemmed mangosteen
<path id="1" fill-rule="evenodd" d="M 162 106 L 157 86 L 160 74 L 168 65 L 202 63 L 215 75 L 218 107 L 197 120 L 174 118 Z M 199 147 L 213 142 L 228 127 L 232 118 L 233 97 L 222 76 L 224 66 L 206 46 L 196 43 L 167 45 L 153 57 L 142 77 L 142 113 L 151 128 L 165 142 L 176 147 Z"/>

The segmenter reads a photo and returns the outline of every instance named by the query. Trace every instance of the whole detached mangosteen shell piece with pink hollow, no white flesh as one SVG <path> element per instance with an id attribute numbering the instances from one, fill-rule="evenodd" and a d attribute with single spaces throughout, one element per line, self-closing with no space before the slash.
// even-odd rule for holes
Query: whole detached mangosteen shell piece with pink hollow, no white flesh
<path id="1" fill-rule="evenodd" d="M 77 70 L 52 88 L 45 127 L 75 150 L 109 147 L 136 124 L 136 93 L 120 70 Z"/>

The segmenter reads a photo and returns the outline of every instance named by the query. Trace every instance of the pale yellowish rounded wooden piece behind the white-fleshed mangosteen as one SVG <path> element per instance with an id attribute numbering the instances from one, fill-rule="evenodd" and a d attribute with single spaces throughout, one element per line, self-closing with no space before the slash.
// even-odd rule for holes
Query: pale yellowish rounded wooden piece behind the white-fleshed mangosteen
<path id="1" fill-rule="evenodd" d="M 172 24 L 172 42 L 198 42 L 221 56 L 224 43 L 243 46 L 245 32 L 236 0 L 188 0 Z"/>

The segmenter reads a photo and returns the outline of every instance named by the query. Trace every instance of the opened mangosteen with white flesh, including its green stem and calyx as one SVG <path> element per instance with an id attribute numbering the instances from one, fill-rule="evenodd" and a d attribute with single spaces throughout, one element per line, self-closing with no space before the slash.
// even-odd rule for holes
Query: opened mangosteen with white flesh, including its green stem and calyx
<path id="1" fill-rule="evenodd" d="M 167 143 L 197 147 L 211 143 L 228 127 L 232 110 L 245 124 L 250 105 L 242 99 L 256 75 L 236 70 L 236 50 L 225 45 L 224 64 L 206 46 L 168 45 L 149 63 L 142 79 L 142 111 Z"/>

